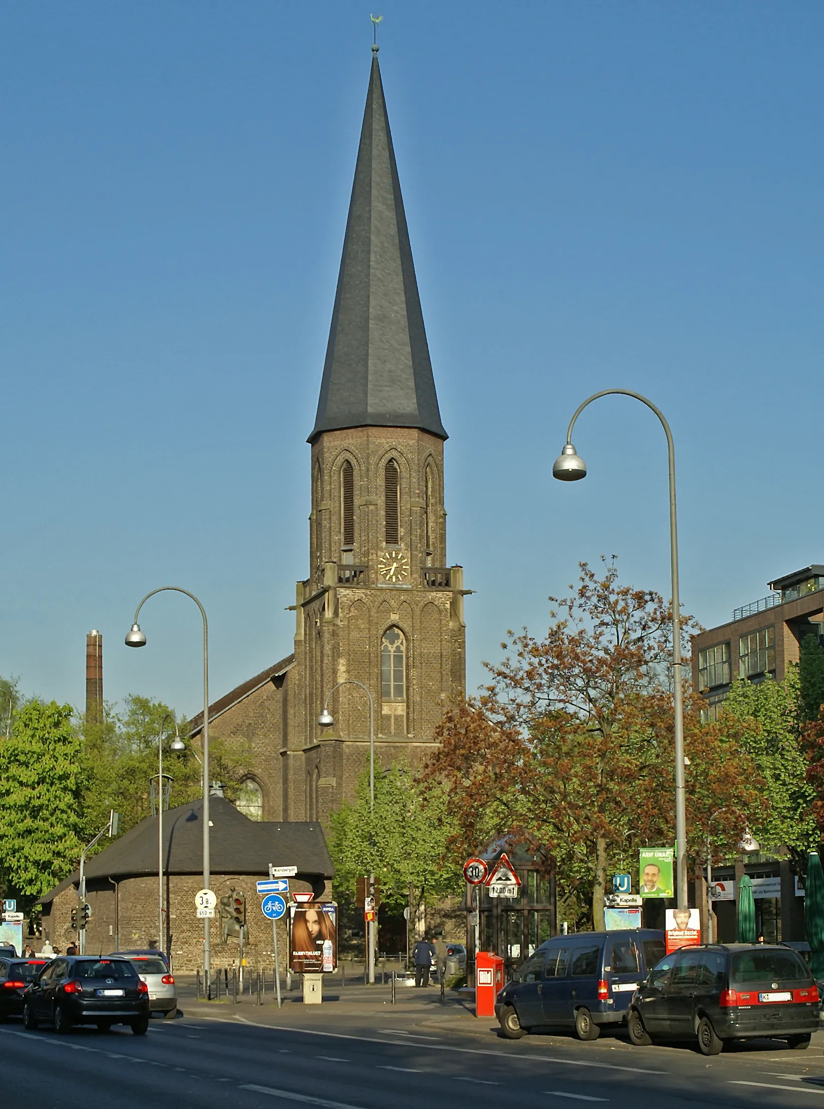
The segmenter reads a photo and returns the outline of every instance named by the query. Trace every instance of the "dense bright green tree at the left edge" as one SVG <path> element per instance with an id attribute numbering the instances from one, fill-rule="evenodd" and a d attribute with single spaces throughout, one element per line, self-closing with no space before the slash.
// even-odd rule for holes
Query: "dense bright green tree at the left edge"
<path id="1" fill-rule="evenodd" d="M 0 871 L 3 887 L 37 898 L 80 854 L 85 767 L 71 705 L 33 700 L 0 742 Z"/>

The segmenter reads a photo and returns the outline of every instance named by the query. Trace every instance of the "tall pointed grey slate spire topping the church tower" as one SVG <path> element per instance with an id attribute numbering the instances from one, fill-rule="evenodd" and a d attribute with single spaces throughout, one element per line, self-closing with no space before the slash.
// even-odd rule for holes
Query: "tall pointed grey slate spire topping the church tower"
<path id="1" fill-rule="evenodd" d="M 378 47 L 363 113 L 318 414 L 309 442 L 347 427 L 418 427 L 441 439 L 423 313 Z"/>

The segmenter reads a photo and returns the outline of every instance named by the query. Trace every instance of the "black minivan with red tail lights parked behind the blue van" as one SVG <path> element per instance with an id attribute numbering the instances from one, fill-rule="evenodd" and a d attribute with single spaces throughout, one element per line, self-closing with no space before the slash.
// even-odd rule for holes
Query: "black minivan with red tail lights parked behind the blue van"
<path id="1" fill-rule="evenodd" d="M 818 1027 L 818 989 L 804 959 L 779 944 L 682 947 L 632 997 L 632 1044 L 692 1039 L 704 1055 L 725 1040 L 780 1037 L 806 1048 Z"/>

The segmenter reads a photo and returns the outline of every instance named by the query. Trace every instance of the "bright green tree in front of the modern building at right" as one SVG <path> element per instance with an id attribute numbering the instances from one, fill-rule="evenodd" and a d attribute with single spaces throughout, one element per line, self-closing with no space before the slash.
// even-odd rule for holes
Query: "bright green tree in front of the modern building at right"
<path id="1" fill-rule="evenodd" d="M 762 815 L 753 814 L 751 827 L 766 851 L 786 846 L 803 854 L 815 838 L 815 791 L 807 782 L 800 701 L 797 667 L 781 682 L 738 679 L 724 701 L 722 731 L 737 739 L 764 782 L 766 805 Z"/>

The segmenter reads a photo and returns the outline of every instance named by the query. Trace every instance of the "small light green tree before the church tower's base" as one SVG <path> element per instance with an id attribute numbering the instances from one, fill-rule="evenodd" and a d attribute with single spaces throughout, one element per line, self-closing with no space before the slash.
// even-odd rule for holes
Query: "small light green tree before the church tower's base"
<path id="1" fill-rule="evenodd" d="M 354 803 L 332 814 L 331 855 L 336 886 L 353 894 L 359 877 L 374 873 L 381 903 L 390 909 L 431 904 L 461 893 L 461 867 L 450 851 L 453 828 L 445 793 L 423 786 L 409 767 L 378 771 L 374 815 L 369 773 L 358 781 Z"/>

